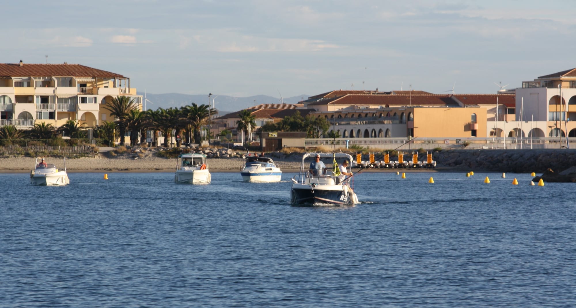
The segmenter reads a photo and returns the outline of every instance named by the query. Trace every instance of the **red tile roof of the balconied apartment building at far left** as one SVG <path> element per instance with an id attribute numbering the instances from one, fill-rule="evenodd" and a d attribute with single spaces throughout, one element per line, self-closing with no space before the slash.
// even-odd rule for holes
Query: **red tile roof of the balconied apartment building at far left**
<path id="1" fill-rule="evenodd" d="M 4 77 L 51 77 L 73 76 L 92 78 L 125 78 L 120 74 L 98 70 L 80 64 L 27 64 L 0 63 L 0 76 Z"/>

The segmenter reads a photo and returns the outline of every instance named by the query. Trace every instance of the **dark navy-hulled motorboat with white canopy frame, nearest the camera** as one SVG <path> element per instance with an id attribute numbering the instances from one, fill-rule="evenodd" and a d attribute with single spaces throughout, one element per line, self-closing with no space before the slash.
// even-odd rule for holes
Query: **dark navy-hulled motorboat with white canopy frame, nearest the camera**
<path id="1" fill-rule="evenodd" d="M 320 159 L 327 162 L 326 170 L 320 175 L 313 175 L 309 172 L 310 160 L 305 161 L 308 157 L 320 155 Z M 344 178 L 342 181 L 339 176 L 334 175 L 334 157 L 336 159 L 346 158 L 352 161 L 352 156 L 347 153 L 305 153 L 302 156 L 300 174 L 292 178 L 292 188 L 290 192 L 290 202 L 292 205 L 354 205 L 358 198 L 350 186 L 350 181 Z"/>

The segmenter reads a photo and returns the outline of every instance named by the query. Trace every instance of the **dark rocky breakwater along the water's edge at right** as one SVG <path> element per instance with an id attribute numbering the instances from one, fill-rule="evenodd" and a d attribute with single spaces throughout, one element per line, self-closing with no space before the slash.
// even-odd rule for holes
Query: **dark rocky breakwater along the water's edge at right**
<path id="1" fill-rule="evenodd" d="M 566 170 L 576 165 L 573 149 L 471 149 L 433 153 L 437 168 L 496 172 L 537 172 Z M 426 153 L 419 155 L 426 160 Z"/>

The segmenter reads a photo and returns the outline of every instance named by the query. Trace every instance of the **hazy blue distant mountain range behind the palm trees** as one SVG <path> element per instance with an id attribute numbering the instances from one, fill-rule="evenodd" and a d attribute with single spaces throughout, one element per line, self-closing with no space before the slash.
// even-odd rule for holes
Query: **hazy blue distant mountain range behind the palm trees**
<path id="1" fill-rule="evenodd" d="M 138 95 L 144 95 L 143 92 L 138 92 Z M 267 95 L 255 95 L 251 97 L 231 97 L 228 95 L 212 95 L 210 97 L 210 103 L 213 103 L 211 107 L 218 109 L 218 115 L 225 115 L 231 112 L 239 111 L 254 105 L 260 104 L 277 104 L 282 102 L 285 103 L 298 103 L 302 99 L 307 99 L 310 95 L 298 95 L 297 97 L 287 97 L 287 98 L 275 98 Z M 180 108 L 182 106 L 191 105 L 191 103 L 196 103 L 197 105 L 208 105 L 208 94 L 206 95 L 190 95 L 190 94 L 180 94 L 180 93 L 165 93 L 165 94 L 151 94 L 146 93 L 146 109 L 156 110 L 158 107 L 164 109 L 169 107 Z M 214 101 L 213 101 L 214 99 Z"/>

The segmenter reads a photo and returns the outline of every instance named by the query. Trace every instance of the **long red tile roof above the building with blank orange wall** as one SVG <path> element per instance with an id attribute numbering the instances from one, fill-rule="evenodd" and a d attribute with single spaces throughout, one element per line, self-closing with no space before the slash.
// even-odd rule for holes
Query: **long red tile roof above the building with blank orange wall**
<path id="1" fill-rule="evenodd" d="M 346 95 L 331 102 L 319 101 L 309 103 L 315 105 L 393 105 L 393 106 L 445 106 L 457 105 L 450 94 L 427 95 Z"/>

